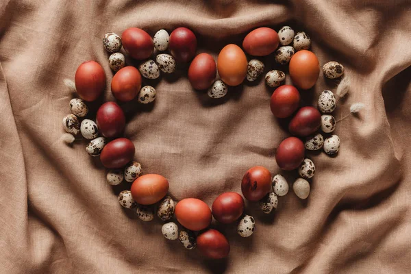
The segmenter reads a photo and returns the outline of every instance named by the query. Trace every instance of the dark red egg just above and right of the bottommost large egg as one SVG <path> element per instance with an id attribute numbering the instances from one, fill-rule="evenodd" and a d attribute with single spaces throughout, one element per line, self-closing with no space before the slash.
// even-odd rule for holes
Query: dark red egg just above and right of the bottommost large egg
<path id="1" fill-rule="evenodd" d="M 233 223 L 244 212 L 244 199 L 237 192 L 225 192 L 216 197 L 211 212 L 220 223 Z"/>

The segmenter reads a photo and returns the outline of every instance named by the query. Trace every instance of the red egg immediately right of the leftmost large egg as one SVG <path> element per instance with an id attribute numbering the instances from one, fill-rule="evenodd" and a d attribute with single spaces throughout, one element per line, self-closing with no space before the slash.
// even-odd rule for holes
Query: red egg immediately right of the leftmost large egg
<path id="1" fill-rule="evenodd" d="M 111 90 L 119 101 L 131 101 L 141 88 L 141 75 L 134 66 L 125 66 L 113 76 Z"/>

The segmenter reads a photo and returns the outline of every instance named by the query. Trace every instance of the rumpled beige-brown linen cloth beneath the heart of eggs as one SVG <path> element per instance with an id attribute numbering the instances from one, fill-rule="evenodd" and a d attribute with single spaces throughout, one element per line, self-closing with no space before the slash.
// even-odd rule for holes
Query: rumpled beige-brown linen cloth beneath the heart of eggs
<path id="1" fill-rule="evenodd" d="M 62 141 L 73 97 L 63 79 L 79 64 L 103 66 L 104 99 L 114 100 L 106 32 L 186 26 L 197 53 L 216 58 L 253 28 L 282 25 L 308 32 L 321 64 L 336 60 L 351 75 L 336 118 L 351 103 L 365 109 L 338 123 L 335 158 L 308 153 L 317 171 L 306 201 L 290 191 L 270 216 L 248 205 L 251 238 L 217 225 L 232 247 L 227 260 L 203 260 L 164 239 L 158 219 L 121 208 L 117 195 L 130 185 L 108 185 L 85 141 Z M 410 273 L 410 42 L 409 0 L 1 1 L 0 273 Z M 272 56 L 263 60 L 266 71 L 276 67 Z M 288 133 L 271 114 L 273 89 L 245 83 L 214 101 L 192 90 L 185 70 L 145 81 L 158 91 L 152 106 L 122 104 L 144 173 L 168 178 L 175 199 L 209 206 L 221 192 L 240 192 L 251 166 L 279 173 L 275 149 Z M 304 103 L 316 105 L 325 89 L 335 92 L 336 82 L 320 75 Z"/>

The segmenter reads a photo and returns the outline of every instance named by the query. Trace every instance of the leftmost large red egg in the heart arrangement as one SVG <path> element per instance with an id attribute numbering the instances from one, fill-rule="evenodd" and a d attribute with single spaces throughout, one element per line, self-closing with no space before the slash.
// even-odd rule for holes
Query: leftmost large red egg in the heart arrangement
<path id="1" fill-rule="evenodd" d="M 84 62 L 75 72 L 75 89 L 84 101 L 95 101 L 105 88 L 105 73 L 99 63 Z"/>

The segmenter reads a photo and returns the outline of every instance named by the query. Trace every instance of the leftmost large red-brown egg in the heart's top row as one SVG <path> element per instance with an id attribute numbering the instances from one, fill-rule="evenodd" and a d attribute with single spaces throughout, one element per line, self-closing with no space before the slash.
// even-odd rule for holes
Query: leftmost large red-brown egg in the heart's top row
<path id="1" fill-rule="evenodd" d="M 153 54 L 153 39 L 147 32 L 138 27 L 129 27 L 121 34 L 123 48 L 129 55 L 137 60 L 147 59 Z"/>

